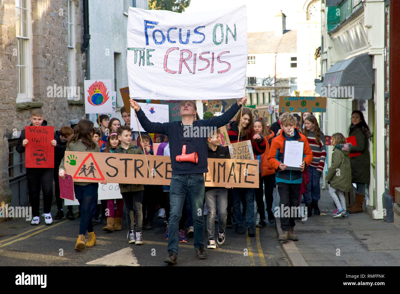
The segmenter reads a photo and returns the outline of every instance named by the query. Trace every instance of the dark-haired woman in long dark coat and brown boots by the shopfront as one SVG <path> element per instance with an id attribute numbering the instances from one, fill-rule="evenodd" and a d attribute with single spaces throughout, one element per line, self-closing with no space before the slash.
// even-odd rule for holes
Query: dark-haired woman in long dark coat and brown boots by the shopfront
<path id="1" fill-rule="evenodd" d="M 350 165 L 352 183 L 356 184 L 356 203 L 347 210 L 348 213 L 362 212 L 362 203 L 365 197 L 365 185 L 370 184 L 370 150 L 368 139 L 372 137 L 370 129 L 360 110 L 351 114 L 349 137 L 356 138 L 356 146 L 350 147 Z M 357 155 L 355 153 L 360 153 Z"/>

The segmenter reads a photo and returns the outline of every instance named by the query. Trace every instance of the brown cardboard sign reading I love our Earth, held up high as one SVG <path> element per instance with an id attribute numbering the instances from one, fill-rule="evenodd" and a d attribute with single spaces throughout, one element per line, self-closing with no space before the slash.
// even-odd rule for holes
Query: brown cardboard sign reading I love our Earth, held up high
<path id="1" fill-rule="evenodd" d="M 279 112 L 326 112 L 326 97 L 279 96 Z"/>

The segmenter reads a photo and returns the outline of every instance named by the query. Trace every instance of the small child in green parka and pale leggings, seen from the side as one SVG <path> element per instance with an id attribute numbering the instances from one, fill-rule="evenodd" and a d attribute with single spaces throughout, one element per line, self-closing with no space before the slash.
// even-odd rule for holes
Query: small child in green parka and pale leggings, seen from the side
<path id="1" fill-rule="evenodd" d="M 325 179 L 330 185 L 329 194 L 336 204 L 338 210 L 333 215 L 337 217 L 347 217 L 346 201 L 344 199 L 344 192 L 350 192 L 351 188 L 351 166 L 350 166 L 350 146 L 346 144 L 346 138 L 340 133 L 332 135 L 332 146 L 334 146 L 332 153 L 332 162 L 328 168 L 328 173 Z M 337 195 L 339 195 L 339 198 Z"/>

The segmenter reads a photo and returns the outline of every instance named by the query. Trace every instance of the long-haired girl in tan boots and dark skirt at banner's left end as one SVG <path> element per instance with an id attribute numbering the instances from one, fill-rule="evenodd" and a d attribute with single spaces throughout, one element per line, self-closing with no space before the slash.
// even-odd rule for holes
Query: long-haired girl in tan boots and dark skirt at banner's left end
<path id="1" fill-rule="evenodd" d="M 67 143 L 67 151 L 80 151 L 80 152 L 100 152 L 99 145 L 92 140 L 94 134 L 94 124 L 90 120 L 80 120 L 76 126 L 75 135 Z M 61 161 L 58 174 L 61 178 L 65 179 L 65 156 Z M 67 159 L 68 160 L 68 159 Z M 67 161 L 68 163 L 68 161 Z M 83 172 L 86 175 L 84 168 Z M 94 168 L 92 168 L 94 170 Z M 107 184 L 105 180 L 101 184 Z M 93 247 L 96 245 L 96 236 L 94 235 L 92 218 L 90 216 L 90 208 L 92 202 L 95 200 L 97 203 L 97 190 L 98 183 L 89 182 L 74 182 L 75 197 L 78 199 L 81 206 L 81 218 L 79 224 L 79 236 L 75 244 L 75 250 L 80 251 L 86 247 Z M 88 231 L 88 242 L 85 244 L 85 234 Z"/>

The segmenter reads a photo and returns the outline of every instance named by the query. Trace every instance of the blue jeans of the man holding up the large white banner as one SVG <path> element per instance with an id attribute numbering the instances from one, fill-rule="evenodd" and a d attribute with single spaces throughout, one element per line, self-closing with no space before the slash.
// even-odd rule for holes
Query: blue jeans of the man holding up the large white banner
<path id="1" fill-rule="evenodd" d="M 168 220 L 168 252 L 178 255 L 178 227 L 185 198 L 192 207 L 194 249 L 204 247 L 204 174 L 172 175 L 170 183 L 170 218 Z"/>

